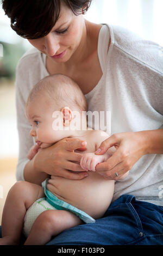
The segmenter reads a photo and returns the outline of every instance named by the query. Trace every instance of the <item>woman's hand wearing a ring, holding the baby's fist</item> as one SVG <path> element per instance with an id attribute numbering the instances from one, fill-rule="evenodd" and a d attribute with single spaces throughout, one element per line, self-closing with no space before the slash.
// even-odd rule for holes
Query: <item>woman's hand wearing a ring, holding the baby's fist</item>
<path id="1" fill-rule="evenodd" d="M 146 131 L 117 133 L 105 139 L 99 146 L 104 154 L 109 148 L 115 147 L 115 153 L 103 163 L 96 166 L 96 172 L 107 179 L 118 180 L 130 170 L 141 156 L 147 154 L 148 138 Z"/>

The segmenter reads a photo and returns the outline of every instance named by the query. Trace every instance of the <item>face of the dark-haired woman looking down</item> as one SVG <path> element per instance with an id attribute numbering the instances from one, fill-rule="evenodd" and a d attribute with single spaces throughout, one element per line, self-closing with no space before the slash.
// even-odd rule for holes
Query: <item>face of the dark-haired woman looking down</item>
<path id="1" fill-rule="evenodd" d="M 54 62 L 66 62 L 82 43 L 83 28 L 83 15 L 76 16 L 70 8 L 61 4 L 59 19 L 52 31 L 42 38 L 28 41 Z"/>

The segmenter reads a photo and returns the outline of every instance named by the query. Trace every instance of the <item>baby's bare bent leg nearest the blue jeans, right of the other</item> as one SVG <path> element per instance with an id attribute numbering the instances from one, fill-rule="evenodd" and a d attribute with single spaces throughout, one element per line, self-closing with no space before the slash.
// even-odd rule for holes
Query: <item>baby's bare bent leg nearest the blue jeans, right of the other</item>
<path id="1" fill-rule="evenodd" d="M 82 223 L 80 218 L 69 211 L 44 211 L 36 218 L 24 245 L 45 245 L 52 236 Z"/>

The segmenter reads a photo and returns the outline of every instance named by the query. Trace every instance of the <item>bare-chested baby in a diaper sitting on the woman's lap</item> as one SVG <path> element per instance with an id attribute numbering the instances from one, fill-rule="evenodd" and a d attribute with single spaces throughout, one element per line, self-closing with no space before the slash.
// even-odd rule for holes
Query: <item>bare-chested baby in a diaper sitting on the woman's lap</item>
<path id="1" fill-rule="evenodd" d="M 42 150 L 60 139 L 79 138 L 86 141 L 86 150 L 75 152 L 82 154 L 80 166 L 89 175 L 82 180 L 51 176 L 42 182 L 42 186 L 27 181 L 16 182 L 4 205 L 0 245 L 18 244 L 22 229 L 27 236 L 24 245 L 44 245 L 65 229 L 95 222 L 108 209 L 115 181 L 97 174 L 95 167 L 106 161 L 115 149 L 95 155 L 109 135 L 87 127 L 86 111 L 82 90 L 67 76 L 47 76 L 30 92 L 26 117 L 32 125 L 30 136 L 37 146 L 30 149 L 28 158 L 32 159 L 38 148 Z M 80 125 L 76 127 L 75 124 Z"/>

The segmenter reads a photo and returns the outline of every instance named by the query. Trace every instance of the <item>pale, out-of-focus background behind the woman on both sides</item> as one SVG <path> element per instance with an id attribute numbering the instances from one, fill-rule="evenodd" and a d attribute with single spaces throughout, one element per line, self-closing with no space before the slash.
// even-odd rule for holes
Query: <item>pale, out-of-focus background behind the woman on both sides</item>
<path id="1" fill-rule="evenodd" d="M 162 10 L 162 0 L 92 0 L 85 19 L 126 27 L 158 42 L 163 57 Z M 0 4 L 0 224 L 7 193 L 16 181 L 15 69 L 18 59 L 30 47 L 28 40 L 12 31 Z"/>

